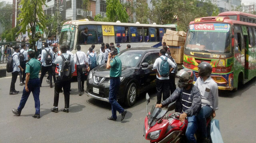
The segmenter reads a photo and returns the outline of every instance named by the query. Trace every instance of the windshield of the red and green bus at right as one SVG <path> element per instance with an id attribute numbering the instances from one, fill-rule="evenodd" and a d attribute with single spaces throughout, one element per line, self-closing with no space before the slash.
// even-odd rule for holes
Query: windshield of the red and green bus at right
<path id="1" fill-rule="evenodd" d="M 229 24 L 192 24 L 189 28 L 185 50 L 231 52 Z"/>

